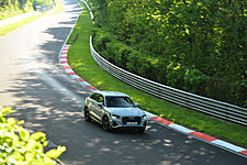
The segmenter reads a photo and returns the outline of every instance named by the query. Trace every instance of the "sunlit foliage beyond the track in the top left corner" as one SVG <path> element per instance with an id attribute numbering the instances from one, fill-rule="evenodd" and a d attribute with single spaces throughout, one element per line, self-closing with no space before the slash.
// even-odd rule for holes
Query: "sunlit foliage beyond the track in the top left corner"
<path id="1" fill-rule="evenodd" d="M 36 6 L 53 6 L 53 0 L 0 0 L 0 20 L 36 9 Z"/>

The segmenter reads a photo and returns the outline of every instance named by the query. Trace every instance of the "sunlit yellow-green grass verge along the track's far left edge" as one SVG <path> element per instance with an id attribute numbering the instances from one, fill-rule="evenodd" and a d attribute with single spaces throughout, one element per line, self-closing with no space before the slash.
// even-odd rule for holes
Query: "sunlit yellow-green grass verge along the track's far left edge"
<path id="1" fill-rule="evenodd" d="M 57 1 L 57 9 L 52 14 L 60 13 L 64 10 L 60 1 L 59 0 L 56 0 L 56 1 Z M 15 31 L 16 29 L 20 29 L 23 25 L 26 25 L 26 24 L 40 19 L 41 16 L 44 16 L 44 15 L 45 15 L 45 13 L 40 14 L 40 15 L 29 16 L 29 18 L 23 19 L 21 21 L 18 21 L 18 22 L 8 24 L 5 26 L 2 26 L 2 28 L 0 28 L 0 36 L 7 35 L 7 34 Z"/>

